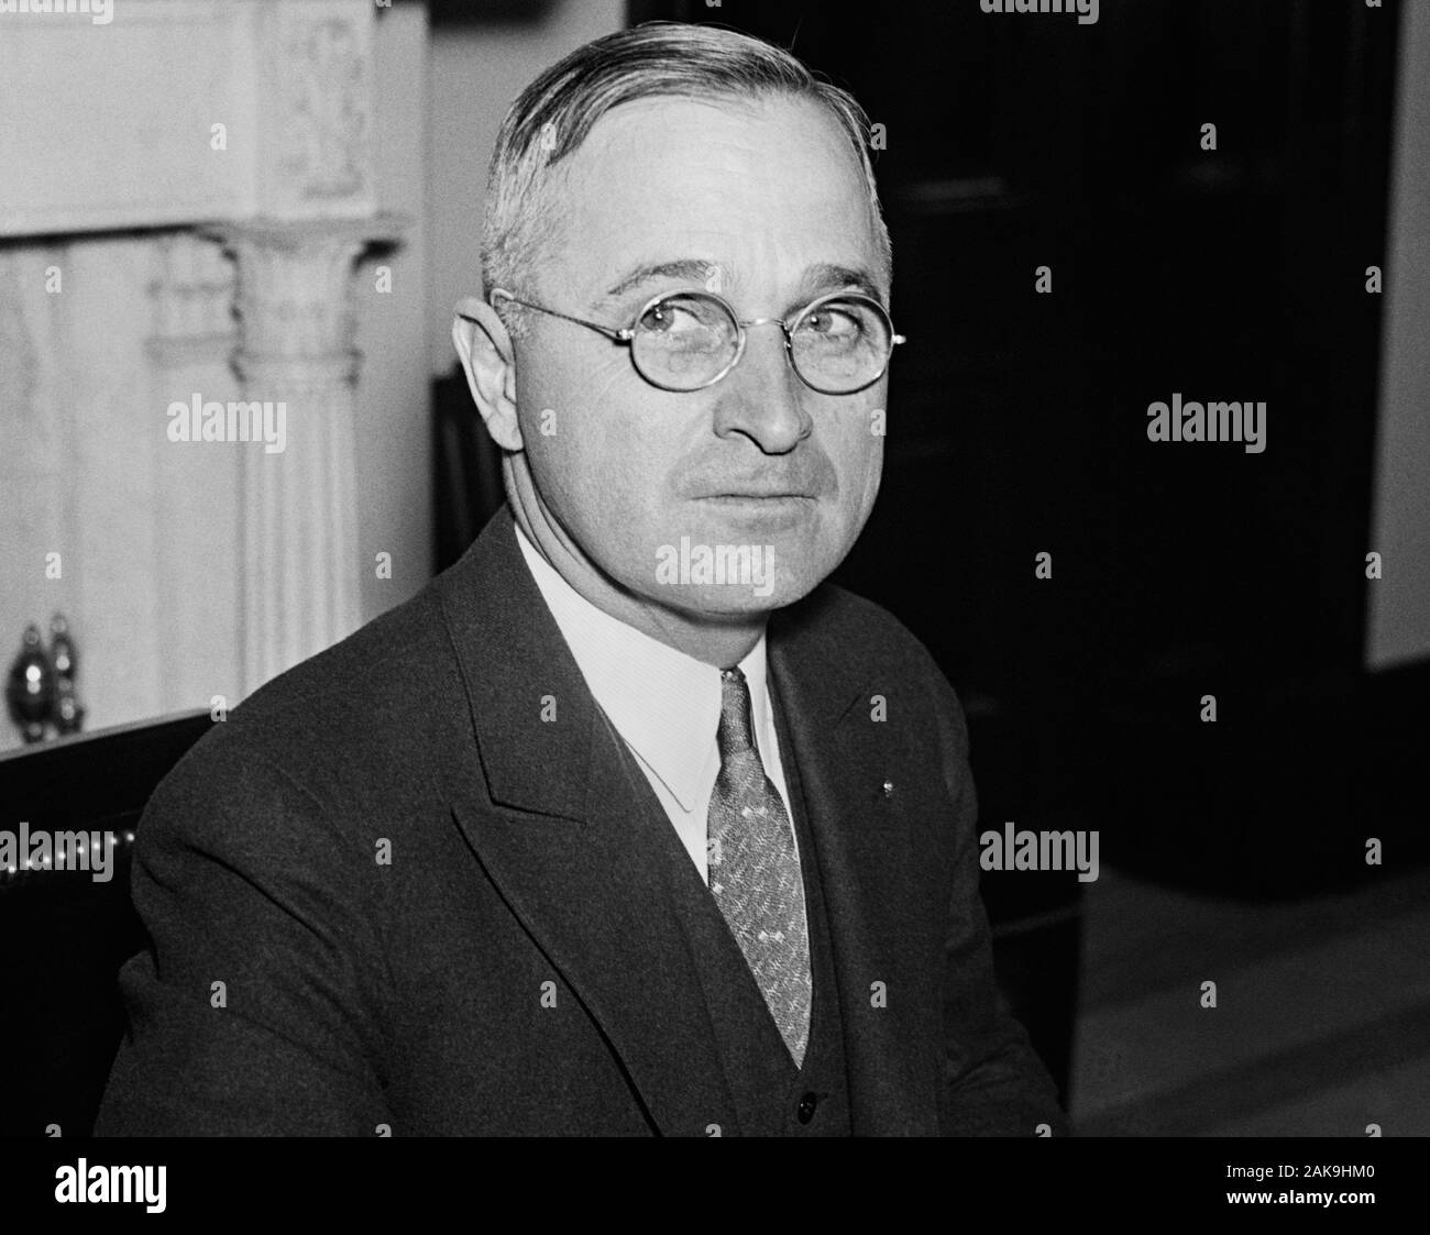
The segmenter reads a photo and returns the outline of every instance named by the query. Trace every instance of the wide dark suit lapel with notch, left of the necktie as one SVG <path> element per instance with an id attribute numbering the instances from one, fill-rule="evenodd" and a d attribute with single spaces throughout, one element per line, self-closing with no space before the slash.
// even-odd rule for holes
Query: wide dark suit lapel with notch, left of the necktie
<path id="1" fill-rule="evenodd" d="M 505 507 L 440 597 L 470 705 L 446 775 L 476 860 L 601 1026 L 656 1128 L 738 1131 L 669 848 L 652 830 L 664 820 L 644 800 L 649 786 L 632 782 Z"/>

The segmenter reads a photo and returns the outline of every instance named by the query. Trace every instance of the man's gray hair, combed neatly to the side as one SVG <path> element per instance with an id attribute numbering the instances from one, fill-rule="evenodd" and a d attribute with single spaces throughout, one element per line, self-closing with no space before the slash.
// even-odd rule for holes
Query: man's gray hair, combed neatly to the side
<path id="1" fill-rule="evenodd" d="M 482 224 L 482 280 L 488 293 L 521 294 L 518 274 L 559 229 L 559 163 L 586 140 L 613 107 L 636 99 L 682 96 L 751 101 L 772 96 L 809 99 L 835 117 L 859 159 L 869 190 L 884 274 L 892 273 L 888 227 L 869 157 L 869 117 L 847 90 L 821 81 L 788 51 L 749 34 L 681 21 L 646 21 L 572 51 L 532 81 L 496 134 Z M 521 319 L 506 300 L 498 307 L 512 333 Z"/>

